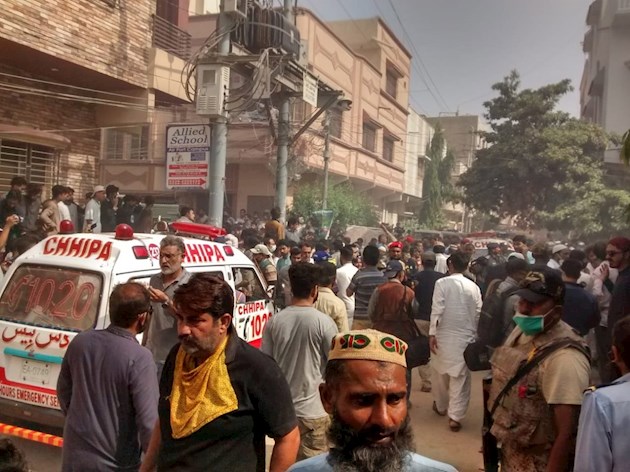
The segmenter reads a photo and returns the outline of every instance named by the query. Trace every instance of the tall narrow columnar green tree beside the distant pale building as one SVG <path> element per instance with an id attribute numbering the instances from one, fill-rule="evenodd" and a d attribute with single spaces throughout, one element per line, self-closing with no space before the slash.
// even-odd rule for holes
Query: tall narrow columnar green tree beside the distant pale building
<path id="1" fill-rule="evenodd" d="M 455 155 L 446 149 L 444 133 L 440 125 L 427 146 L 427 162 L 424 167 L 422 199 L 418 220 L 425 228 L 442 228 L 445 224 L 443 207 L 454 193 L 451 173 L 455 165 Z"/>

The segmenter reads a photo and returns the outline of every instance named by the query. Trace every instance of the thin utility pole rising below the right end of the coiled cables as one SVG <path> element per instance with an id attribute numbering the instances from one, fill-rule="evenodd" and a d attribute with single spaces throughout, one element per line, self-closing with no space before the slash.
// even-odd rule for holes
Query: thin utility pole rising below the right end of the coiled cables
<path id="1" fill-rule="evenodd" d="M 284 17 L 287 22 L 293 24 L 292 0 L 284 0 Z M 289 160 L 289 97 L 281 93 L 280 109 L 278 114 L 278 153 L 276 168 L 276 206 L 280 208 L 280 221 L 286 220 L 287 212 L 287 162 Z"/>

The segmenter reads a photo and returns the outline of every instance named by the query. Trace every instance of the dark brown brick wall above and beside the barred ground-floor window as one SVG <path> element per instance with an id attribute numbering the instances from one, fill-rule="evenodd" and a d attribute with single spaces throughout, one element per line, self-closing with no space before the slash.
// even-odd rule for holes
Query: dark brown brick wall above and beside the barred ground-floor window
<path id="1" fill-rule="evenodd" d="M 8 69 L 0 65 L 0 72 L 27 75 L 22 71 Z M 6 83 L 23 82 L 4 80 Z M 45 88 L 39 86 L 39 88 Z M 75 93 L 71 89 L 55 87 L 56 92 Z M 0 92 L 0 123 L 26 126 L 45 131 L 96 128 L 95 106 L 88 103 L 58 100 L 54 98 L 24 95 L 14 92 Z M 68 149 L 59 156 L 59 177 L 48 182 L 47 187 L 56 183 L 74 188 L 76 201 L 82 200 L 85 192 L 91 191 L 97 178 L 97 159 L 100 154 L 100 131 L 55 131 L 70 139 Z M 107 183 L 104 183 L 106 185 Z"/>

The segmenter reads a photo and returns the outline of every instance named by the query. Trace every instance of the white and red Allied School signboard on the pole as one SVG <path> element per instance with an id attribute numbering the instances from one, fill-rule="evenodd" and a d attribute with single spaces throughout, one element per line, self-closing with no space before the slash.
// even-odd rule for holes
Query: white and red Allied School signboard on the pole
<path id="1" fill-rule="evenodd" d="M 166 127 L 166 188 L 208 188 L 210 125 Z"/>

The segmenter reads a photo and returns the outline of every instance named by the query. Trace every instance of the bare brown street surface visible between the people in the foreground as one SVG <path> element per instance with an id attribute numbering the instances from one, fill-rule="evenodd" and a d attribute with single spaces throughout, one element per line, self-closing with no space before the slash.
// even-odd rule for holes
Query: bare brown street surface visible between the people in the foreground
<path id="1" fill-rule="evenodd" d="M 437 416 L 431 409 L 431 394 L 420 392 L 420 378 L 414 372 L 411 420 L 419 454 L 448 462 L 460 472 L 482 470 L 483 462 L 479 453 L 482 377 L 480 374 L 473 374 L 472 400 L 468 416 L 462 423 L 462 430 L 459 433 L 452 433 L 448 428 L 447 419 Z M 17 438 L 14 438 L 14 441 L 26 453 L 33 472 L 54 472 L 60 469 L 61 449 Z M 268 444 L 268 450 L 271 451 L 272 442 L 269 441 Z"/>

